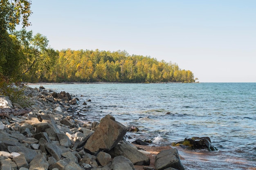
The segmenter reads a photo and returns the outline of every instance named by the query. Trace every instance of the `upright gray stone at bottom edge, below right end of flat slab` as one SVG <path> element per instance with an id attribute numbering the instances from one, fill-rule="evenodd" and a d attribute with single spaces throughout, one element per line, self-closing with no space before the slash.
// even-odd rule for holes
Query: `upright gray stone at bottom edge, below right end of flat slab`
<path id="1" fill-rule="evenodd" d="M 29 170 L 48 170 L 48 167 L 49 163 L 43 154 L 36 155 L 36 157 L 29 163 Z"/>

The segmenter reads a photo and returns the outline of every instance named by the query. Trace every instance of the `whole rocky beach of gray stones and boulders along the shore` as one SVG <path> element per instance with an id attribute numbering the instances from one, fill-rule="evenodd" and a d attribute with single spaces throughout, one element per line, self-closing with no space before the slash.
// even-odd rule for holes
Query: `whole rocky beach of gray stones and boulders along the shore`
<path id="1" fill-rule="evenodd" d="M 110 114 L 100 122 L 81 119 L 78 97 L 23 88 L 28 108 L 0 97 L 1 170 L 184 169 L 175 148 L 126 141 L 129 127 Z"/>

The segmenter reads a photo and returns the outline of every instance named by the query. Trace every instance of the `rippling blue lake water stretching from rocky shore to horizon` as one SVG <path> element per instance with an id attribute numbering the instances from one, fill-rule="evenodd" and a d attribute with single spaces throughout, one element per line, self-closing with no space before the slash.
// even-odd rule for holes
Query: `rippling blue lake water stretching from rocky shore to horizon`
<path id="1" fill-rule="evenodd" d="M 87 115 L 81 120 L 100 121 L 111 114 L 125 126 L 138 127 L 139 132 L 127 133 L 131 141 L 150 139 L 162 146 L 210 137 L 218 151 L 177 147 L 187 170 L 256 170 L 256 83 L 43 86 L 68 92 L 79 98 L 79 104 L 91 99 L 87 108 L 78 107 Z"/>

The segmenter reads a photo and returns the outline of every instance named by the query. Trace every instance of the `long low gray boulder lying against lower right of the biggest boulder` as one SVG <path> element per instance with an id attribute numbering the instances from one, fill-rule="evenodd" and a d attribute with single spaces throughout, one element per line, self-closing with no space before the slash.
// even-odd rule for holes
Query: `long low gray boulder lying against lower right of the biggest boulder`
<path id="1" fill-rule="evenodd" d="M 121 143 L 117 144 L 114 149 L 112 149 L 110 152 L 110 155 L 112 157 L 116 156 L 124 156 L 128 158 L 133 165 L 149 165 L 150 164 L 150 159 L 148 156 L 146 156 L 144 153 L 141 153 L 135 149 L 134 147 L 126 144 L 126 143 Z"/>

